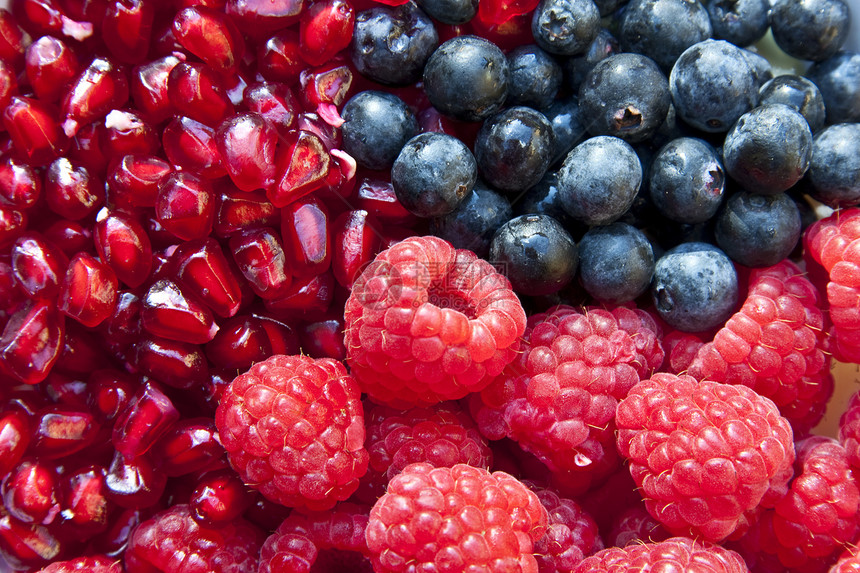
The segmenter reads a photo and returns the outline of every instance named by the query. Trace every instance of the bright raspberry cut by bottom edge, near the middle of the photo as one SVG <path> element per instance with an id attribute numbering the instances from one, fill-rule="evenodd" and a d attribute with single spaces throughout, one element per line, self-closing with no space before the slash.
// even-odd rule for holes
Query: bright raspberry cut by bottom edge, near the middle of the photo
<path id="1" fill-rule="evenodd" d="M 418 463 L 374 504 L 366 538 L 376 573 L 536 573 L 546 525 L 537 495 L 504 472 Z"/>

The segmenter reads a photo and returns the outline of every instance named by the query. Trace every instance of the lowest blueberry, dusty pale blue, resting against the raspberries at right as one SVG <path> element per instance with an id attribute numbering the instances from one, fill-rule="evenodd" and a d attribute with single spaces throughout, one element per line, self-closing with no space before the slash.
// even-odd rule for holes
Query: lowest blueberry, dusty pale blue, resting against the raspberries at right
<path id="1" fill-rule="evenodd" d="M 738 304 L 732 261 L 708 243 L 682 243 L 657 260 L 651 298 L 660 318 L 684 332 L 725 324 Z"/>

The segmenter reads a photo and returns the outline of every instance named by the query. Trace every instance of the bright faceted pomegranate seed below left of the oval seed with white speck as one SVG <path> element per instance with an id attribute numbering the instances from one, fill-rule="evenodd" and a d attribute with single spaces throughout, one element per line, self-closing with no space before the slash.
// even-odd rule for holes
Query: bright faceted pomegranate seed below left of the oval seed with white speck
<path id="1" fill-rule="evenodd" d="M 119 281 L 108 265 L 87 253 L 78 253 L 69 263 L 60 289 L 59 309 L 90 328 L 116 310 Z"/>

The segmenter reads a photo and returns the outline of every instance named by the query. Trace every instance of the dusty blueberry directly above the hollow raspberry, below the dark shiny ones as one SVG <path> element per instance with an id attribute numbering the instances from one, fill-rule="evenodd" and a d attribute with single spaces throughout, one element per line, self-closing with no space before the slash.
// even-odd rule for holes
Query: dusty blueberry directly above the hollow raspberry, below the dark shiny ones
<path id="1" fill-rule="evenodd" d="M 478 180 L 478 165 L 462 141 L 428 132 L 406 142 L 391 167 L 397 200 L 419 217 L 441 217 L 457 208 Z"/>

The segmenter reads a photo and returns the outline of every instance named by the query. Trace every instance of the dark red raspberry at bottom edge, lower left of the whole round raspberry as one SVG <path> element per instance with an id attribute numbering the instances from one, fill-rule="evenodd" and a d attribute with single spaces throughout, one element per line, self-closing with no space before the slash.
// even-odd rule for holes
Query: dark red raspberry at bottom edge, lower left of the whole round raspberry
<path id="1" fill-rule="evenodd" d="M 187 505 L 141 523 L 125 551 L 127 573 L 256 573 L 262 531 L 243 519 L 209 528 Z"/>

